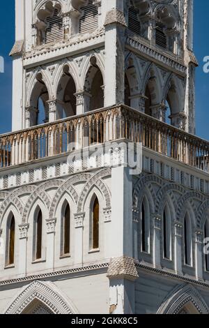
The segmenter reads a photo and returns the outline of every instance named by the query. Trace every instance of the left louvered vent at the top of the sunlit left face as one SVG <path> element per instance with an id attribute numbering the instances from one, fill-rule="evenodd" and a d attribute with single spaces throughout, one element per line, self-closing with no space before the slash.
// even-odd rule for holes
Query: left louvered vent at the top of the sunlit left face
<path id="1" fill-rule="evenodd" d="M 54 9 L 51 17 L 47 17 L 47 29 L 45 30 L 45 43 L 62 40 L 63 20 L 59 16 L 58 10 Z"/>

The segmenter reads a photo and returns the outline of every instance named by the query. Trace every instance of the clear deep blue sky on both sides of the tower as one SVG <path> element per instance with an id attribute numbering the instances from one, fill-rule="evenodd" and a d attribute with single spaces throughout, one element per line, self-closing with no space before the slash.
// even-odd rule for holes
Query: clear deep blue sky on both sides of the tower
<path id="1" fill-rule="evenodd" d="M 8 56 L 15 38 L 15 0 L 3 2 L 0 20 L 0 55 L 5 73 L 0 73 L 0 133 L 11 131 L 12 60 Z M 196 69 L 196 134 L 209 140 L 209 73 L 203 73 L 203 57 L 209 56 L 209 1 L 194 0 L 194 50 Z M 17 81 L 18 83 L 18 81 Z"/>

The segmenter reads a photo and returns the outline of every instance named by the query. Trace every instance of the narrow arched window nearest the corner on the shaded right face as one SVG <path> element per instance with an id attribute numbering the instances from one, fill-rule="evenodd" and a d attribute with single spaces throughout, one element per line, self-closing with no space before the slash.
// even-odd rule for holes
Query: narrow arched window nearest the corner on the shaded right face
<path id="1" fill-rule="evenodd" d="M 149 253 L 150 249 L 150 223 L 149 223 L 149 212 L 148 202 L 144 197 L 141 204 L 141 251 Z"/>

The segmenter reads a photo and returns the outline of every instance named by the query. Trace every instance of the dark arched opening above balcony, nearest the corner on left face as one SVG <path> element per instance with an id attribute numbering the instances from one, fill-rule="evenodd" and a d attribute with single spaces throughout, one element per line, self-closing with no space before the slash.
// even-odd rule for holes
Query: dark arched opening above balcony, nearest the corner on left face
<path id="1" fill-rule="evenodd" d="M 86 75 L 84 89 L 86 91 L 85 112 L 104 107 L 104 80 L 95 57 L 91 57 L 91 66 Z"/>

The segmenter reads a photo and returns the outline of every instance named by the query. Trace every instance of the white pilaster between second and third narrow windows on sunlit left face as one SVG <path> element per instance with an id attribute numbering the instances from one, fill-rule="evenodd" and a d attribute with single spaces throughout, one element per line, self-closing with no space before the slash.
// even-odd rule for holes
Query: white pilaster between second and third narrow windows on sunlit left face
<path id="1" fill-rule="evenodd" d="M 46 220 L 47 224 L 47 269 L 54 269 L 54 237 L 56 218 Z"/>

